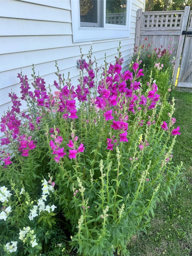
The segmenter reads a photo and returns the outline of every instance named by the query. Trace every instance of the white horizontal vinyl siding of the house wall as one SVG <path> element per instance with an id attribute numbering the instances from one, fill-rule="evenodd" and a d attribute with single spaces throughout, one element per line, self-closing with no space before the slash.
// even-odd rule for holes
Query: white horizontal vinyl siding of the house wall
<path id="1" fill-rule="evenodd" d="M 71 0 L 76 1 L 76 0 Z M 119 41 L 124 58 L 123 69 L 134 53 L 134 39 L 137 9 L 144 8 L 144 0 L 131 2 L 131 30 L 129 38 L 73 43 L 70 0 L 1 0 L 0 1 L 0 115 L 11 107 L 8 93 L 20 96 L 17 73 L 27 75 L 29 84 L 33 81 L 32 64 L 36 74 L 44 78 L 46 85 L 57 80 L 54 72 L 55 60 L 60 73 L 67 78 L 70 71 L 72 84 L 78 84 L 79 69 L 76 60 L 80 59 L 79 45 L 84 57 L 92 45 L 93 56 L 98 67 L 114 62 Z"/>

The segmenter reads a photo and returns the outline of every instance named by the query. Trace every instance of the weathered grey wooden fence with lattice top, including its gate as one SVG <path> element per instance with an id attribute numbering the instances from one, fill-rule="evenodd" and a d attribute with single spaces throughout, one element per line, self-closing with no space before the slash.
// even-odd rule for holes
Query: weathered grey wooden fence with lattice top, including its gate
<path id="1" fill-rule="evenodd" d="M 138 10 L 137 13 L 137 25 L 136 25 L 136 36 L 135 36 L 135 47 L 140 47 L 142 44 L 151 44 L 153 42 L 153 48 L 168 48 L 170 45 L 170 40 L 173 48 L 175 48 L 173 55 L 176 56 L 175 69 L 173 73 L 173 83 L 176 82 L 176 77 L 180 65 L 180 59 L 182 56 L 182 51 L 184 50 L 184 40 L 186 37 L 186 29 L 188 24 L 191 22 L 191 12 L 190 7 L 187 6 L 183 11 L 154 11 L 154 12 L 143 12 L 142 9 Z M 191 35 L 190 43 L 191 43 Z M 146 39 L 147 38 L 147 39 Z M 146 39 L 146 40 L 145 40 Z M 191 53 L 192 49 L 188 48 Z M 188 54 L 185 54 L 182 58 L 188 58 Z M 191 74 L 191 64 L 192 58 L 188 58 L 188 73 Z M 184 66 L 183 66 L 184 67 Z M 184 71 L 184 73 L 186 73 Z M 192 81 L 189 78 L 184 87 L 192 88 Z M 179 80 L 178 80 L 179 81 Z"/>

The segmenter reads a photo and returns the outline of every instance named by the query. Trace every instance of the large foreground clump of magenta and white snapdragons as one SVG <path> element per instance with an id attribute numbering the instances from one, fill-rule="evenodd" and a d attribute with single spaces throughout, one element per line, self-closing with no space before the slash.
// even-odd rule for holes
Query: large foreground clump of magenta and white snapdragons
<path id="1" fill-rule="evenodd" d="M 120 48 L 114 64 L 105 59 L 101 77 L 90 50 L 76 87 L 56 62 L 54 94 L 34 66 L 33 87 L 18 74 L 28 110 L 21 112 L 10 93 L 13 106 L 0 125 L 1 146 L 10 149 L 1 150 L 0 180 L 0 198 L 6 198 L 0 243 L 7 253 L 67 255 L 68 248 L 79 255 L 128 255 L 128 241 L 146 232 L 156 203 L 179 183 L 182 166 L 172 163 L 180 134 L 173 127 L 174 99 L 160 125 L 165 109 L 158 85 L 151 75 L 143 91 L 138 58 L 122 73 Z"/>

